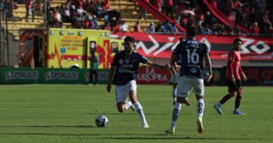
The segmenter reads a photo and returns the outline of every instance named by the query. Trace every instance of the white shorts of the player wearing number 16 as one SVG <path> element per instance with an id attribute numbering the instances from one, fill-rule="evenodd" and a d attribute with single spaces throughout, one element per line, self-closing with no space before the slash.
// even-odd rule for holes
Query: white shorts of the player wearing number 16
<path id="1" fill-rule="evenodd" d="M 186 76 L 179 77 L 179 84 L 177 86 L 176 96 L 188 97 L 190 89 L 193 87 L 193 92 L 198 96 L 204 96 L 204 80 L 195 78 L 186 78 Z"/>

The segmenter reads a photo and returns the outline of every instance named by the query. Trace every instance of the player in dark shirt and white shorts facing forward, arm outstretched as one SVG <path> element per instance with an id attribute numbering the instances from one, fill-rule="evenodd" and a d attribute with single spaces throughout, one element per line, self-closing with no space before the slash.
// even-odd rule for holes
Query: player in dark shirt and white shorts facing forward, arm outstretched
<path id="1" fill-rule="evenodd" d="M 144 115 L 144 110 L 137 100 L 136 79 L 139 63 L 161 69 L 169 69 L 169 65 L 160 66 L 158 63 L 148 61 L 146 57 L 138 52 L 134 52 L 134 43 L 134 38 L 127 36 L 124 40 L 125 50 L 115 54 L 109 70 L 106 90 L 108 92 L 111 91 L 111 82 L 113 78 L 113 84 L 116 84 L 116 103 L 118 112 L 125 112 L 129 107 L 135 108 L 141 118 L 142 126 L 144 128 L 149 128 Z M 127 101 L 128 94 L 131 101 Z"/>

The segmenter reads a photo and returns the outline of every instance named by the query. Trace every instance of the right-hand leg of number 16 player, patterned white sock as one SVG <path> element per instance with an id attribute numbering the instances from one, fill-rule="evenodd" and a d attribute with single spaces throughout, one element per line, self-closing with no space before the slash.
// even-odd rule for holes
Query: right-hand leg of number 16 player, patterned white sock
<path id="1" fill-rule="evenodd" d="M 197 131 L 198 133 L 203 133 L 204 127 L 202 118 L 204 114 L 204 80 L 193 79 L 192 83 L 193 92 L 195 93 L 197 100 Z"/>

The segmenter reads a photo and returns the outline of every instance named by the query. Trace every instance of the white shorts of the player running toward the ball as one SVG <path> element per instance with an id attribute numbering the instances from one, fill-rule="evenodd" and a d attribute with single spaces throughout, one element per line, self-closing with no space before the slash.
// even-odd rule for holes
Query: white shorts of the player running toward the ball
<path id="1" fill-rule="evenodd" d="M 126 85 L 116 85 L 116 102 L 122 102 L 127 99 L 130 91 L 137 92 L 136 80 L 131 80 Z"/>

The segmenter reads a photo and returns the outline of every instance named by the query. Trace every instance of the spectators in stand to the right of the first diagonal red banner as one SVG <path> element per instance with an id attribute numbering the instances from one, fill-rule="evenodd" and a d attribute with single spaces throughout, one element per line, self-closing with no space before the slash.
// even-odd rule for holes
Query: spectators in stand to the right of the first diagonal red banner
<path id="1" fill-rule="evenodd" d="M 272 20 L 265 0 L 207 0 L 213 8 L 221 11 L 234 26 L 220 22 L 202 0 L 149 0 L 155 8 L 175 20 L 181 27 L 199 27 L 202 34 L 238 35 L 237 24 L 250 33 L 272 34 Z M 270 2 L 269 2 L 270 3 Z M 176 17 L 172 15 L 176 13 Z M 161 30 L 162 31 L 162 30 Z"/>

